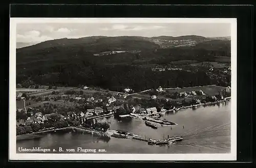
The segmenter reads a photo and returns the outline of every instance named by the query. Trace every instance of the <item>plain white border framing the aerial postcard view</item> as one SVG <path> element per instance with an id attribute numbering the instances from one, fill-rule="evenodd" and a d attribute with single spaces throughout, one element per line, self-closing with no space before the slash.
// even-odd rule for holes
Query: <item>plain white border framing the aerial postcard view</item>
<path id="1" fill-rule="evenodd" d="M 16 153 L 16 23 L 230 23 L 231 152 L 228 154 L 20 154 Z M 10 18 L 9 159 L 10 160 L 236 160 L 237 159 L 237 18 Z M 72 155 L 72 156 L 71 156 Z"/>

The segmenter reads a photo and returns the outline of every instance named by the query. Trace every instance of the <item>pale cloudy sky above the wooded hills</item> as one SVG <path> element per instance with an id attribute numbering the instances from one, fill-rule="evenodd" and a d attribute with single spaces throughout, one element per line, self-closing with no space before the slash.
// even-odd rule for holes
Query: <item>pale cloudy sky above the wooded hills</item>
<path id="1" fill-rule="evenodd" d="M 17 23 L 16 42 L 88 36 L 230 36 L 230 23 Z"/>

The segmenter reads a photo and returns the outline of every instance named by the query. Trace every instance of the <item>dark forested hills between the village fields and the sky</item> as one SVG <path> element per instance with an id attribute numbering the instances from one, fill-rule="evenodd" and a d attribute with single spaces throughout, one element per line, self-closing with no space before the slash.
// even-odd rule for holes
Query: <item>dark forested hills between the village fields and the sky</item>
<path id="1" fill-rule="evenodd" d="M 198 37 L 197 37 L 198 38 Z M 168 65 L 172 61 L 216 61 L 230 57 L 230 42 L 211 40 L 193 47 L 161 49 L 143 37 L 90 37 L 58 39 L 17 49 L 16 82 L 55 86 L 91 85 L 121 91 L 184 87 L 225 83 L 210 79 L 203 67 L 197 71 L 152 71 L 148 65 Z M 139 51 L 94 56 L 106 51 Z M 220 81 L 221 80 L 221 81 Z M 224 81 L 223 81 L 224 80 Z"/>

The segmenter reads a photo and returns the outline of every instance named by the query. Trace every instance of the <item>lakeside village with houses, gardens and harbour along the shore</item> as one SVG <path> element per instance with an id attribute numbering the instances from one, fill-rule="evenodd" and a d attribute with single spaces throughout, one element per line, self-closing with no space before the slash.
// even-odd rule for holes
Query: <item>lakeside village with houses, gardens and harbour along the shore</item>
<path id="1" fill-rule="evenodd" d="M 106 131 L 110 127 L 109 123 L 96 124 L 96 118 L 109 116 L 133 117 L 162 126 L 176 125 L 157 117 L 164 112 L 178 111 L 181 108 L 196 108 L 198 105 L 226 101 L 231 96 L 231 87 L 210 85 L 163 89 L 159 86 L 140 93 L 132 93 L 130 88 L 117 93 L 108 90 L 92 92 L 88 86 L 83 86 L 62 93 L 52 91 L 51 94 L 40 97 L 22 92 L 17 92 L 16 95 L 16 101 L 23 102 L 23 107 L 17 107 L 16 111 L 16 126 L 19 129 L 17 134 L 26 134 L 84 125 L 90 129 Z M 27 130 L 20 131 L 23 127 Z"/>

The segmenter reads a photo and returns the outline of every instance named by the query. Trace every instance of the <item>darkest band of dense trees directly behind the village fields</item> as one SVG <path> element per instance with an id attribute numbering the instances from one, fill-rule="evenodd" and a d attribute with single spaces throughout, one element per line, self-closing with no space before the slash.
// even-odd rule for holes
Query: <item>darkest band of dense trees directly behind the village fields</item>
<path id="1" fill-rule="evenodd" d="M 185 87 L 217 84 L 213 83 L 204 71 L 152 71 L 129 65 L 95 66 L 63 68 L 58 74 L 31 77 L 35 83 L 54 86 L 92 85 L 101 88 L 123 91 L 132 88 L 134 91 L 162 87 Z M 18 82 L 18 80 L 17 80 Z"/>

